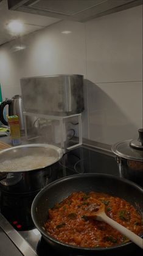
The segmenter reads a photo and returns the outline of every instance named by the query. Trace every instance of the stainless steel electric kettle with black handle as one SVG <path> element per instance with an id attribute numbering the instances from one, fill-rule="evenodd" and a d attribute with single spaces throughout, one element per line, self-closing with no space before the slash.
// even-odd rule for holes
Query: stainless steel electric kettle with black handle
<path id="1" fill-rule="evenodd" d="M 0 105 L 0 121 L 5 126 L 8 126 L 8 122 L 4 118 L 4 108 L 9 106 L 9 116 L 18 115 L 20 129 L 24 130 L 24 121 L 23 121 L 23 100 L 20 95 L 15 95 L 12 99 L 5 100 Z"/>

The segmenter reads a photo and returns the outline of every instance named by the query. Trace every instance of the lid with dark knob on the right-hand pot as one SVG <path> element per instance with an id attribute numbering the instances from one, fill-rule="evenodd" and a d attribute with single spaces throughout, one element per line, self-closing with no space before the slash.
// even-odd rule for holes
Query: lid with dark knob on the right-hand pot
<path id="1" fill-rule="evenodd" d="M 119 157 L 143 162 L 143 129 L 139 129 L 137 140 L 120 141 L 111 150 Z"/>

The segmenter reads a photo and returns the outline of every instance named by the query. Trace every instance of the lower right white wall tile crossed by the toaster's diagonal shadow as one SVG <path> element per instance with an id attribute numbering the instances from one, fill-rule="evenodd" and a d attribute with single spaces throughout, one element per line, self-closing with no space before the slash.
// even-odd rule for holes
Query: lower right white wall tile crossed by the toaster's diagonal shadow
<path id="1" fill-rule="evenodd" d="M 88 83 L 89 138 L 113 144 L 138 136 L 142 83 Z"/>

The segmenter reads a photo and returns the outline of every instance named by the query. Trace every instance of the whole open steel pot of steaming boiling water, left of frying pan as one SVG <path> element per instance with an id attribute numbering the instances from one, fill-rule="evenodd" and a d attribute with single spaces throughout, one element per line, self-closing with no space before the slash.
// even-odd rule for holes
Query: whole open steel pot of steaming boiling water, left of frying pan
<path id="1" fill-rule="evenodd" d="M 54 180 L 63 150 L 47 144 L 15 146 L 0 152 L 0 189 L 28 193 Z"/>

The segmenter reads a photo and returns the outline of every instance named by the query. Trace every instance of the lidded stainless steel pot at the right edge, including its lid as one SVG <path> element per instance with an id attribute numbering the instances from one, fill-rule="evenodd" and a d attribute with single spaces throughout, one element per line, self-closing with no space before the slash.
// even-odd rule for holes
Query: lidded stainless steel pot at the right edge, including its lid
<path id="1" fill-rule="evenodd" d="M 143 187 L 143 129 L 139 129 L 137 140 L 126 140 L 112 146 L 116 154 L 120 177 Z"/>

